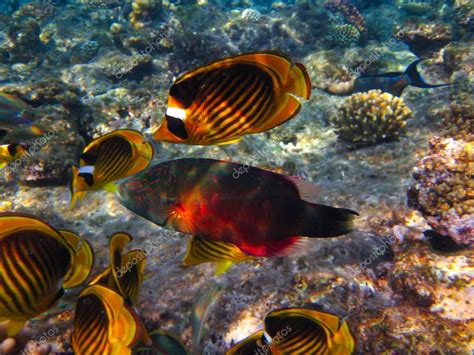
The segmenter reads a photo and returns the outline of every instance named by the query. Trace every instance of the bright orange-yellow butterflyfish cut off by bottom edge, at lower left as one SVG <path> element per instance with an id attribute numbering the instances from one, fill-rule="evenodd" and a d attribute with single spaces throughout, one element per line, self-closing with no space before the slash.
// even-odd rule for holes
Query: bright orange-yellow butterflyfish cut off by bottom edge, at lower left
<path id="1" fill-rule="evenodd" d="M 76 355 L 131 354 L 132 347 L 145 334 L 146 329 L 133 308 L 111 288 L 92 285 L 80 293 L 72 332 Z"/>

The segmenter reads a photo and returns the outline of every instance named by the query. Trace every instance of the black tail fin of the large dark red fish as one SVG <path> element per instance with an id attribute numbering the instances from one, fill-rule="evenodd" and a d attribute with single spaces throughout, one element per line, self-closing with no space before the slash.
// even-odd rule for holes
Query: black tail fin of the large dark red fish
<path id="1" fill-rule="evenodd" d="M 336 208 L 309 203 L 312 209 L 313 223 L 305 235 L 311 238 L 331 238 L 350 233 L 354 225 L 354 216 L 359 214 L 346 208 Z"/>

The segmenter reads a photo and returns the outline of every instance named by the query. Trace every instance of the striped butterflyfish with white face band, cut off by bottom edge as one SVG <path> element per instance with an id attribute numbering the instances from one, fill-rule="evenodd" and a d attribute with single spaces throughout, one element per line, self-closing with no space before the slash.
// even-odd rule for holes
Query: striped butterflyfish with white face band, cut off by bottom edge
<path id="1" fill-rule="evenodd" d="M 339 354 L 349 355 L 355 342 L 345 321 L 305 308 L 270 312 L 264 331 L 252 334 L 226 352 L 231 354 Z"/>

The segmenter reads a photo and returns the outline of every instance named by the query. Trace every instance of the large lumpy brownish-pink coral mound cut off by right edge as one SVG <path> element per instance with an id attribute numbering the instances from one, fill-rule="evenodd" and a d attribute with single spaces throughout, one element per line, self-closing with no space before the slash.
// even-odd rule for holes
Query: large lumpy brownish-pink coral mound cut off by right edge
<path id="1" fill-rule="evenodd" d="M 408 205 L 430 226 L 459 244 L 474 243 L 474 147 L 472 142 L 433 137 L 430 152 L 413 173 Z"/>

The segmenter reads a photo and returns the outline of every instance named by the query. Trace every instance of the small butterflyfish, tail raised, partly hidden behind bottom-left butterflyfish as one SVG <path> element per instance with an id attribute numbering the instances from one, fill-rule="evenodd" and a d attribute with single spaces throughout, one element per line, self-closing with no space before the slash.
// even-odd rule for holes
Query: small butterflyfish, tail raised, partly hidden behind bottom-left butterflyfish
<path id="1" fill-rule="evenodd" d="M 142 250 L 123 252 L 133 237 L 115 233 L 109 242 L 110 266 L 94 277 L 90 285 L 107 285 L 117 291 L 127 304 L 136 305 L 145 274 L 146 254 Z"/>

